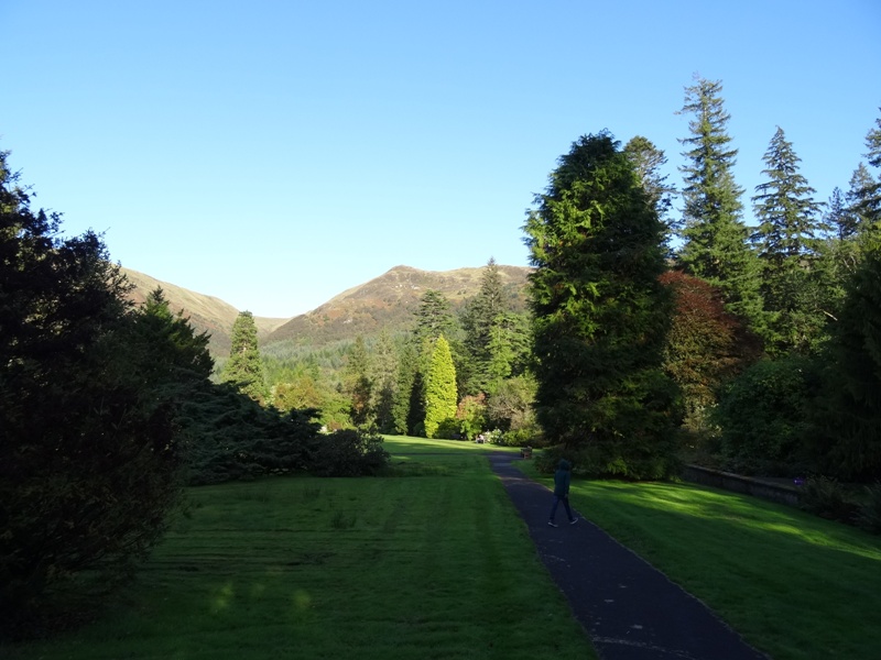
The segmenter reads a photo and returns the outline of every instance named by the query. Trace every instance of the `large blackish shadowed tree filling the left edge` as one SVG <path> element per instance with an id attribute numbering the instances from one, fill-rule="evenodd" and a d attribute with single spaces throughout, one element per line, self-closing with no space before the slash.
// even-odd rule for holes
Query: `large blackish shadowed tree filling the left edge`
<path id="1" fill-rule="evenodd" d="M 207 362 L 180 345 L 173 320 L 135 327 L 101 238 L 62 238 L 61 218 L 31 209 L 7 155 L 0 629 L 22 634 L 35 618 L 87 613 L 161 538 L 180 495 L 171 384 Z"/>

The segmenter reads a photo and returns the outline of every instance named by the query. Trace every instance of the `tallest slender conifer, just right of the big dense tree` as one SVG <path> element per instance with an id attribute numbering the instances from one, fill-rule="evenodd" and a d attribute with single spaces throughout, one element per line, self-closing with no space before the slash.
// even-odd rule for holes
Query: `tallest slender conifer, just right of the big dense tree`
<path id="1" fill-rule="evenodd" d="M 735 183 L 737 150 L 727 133 L 730 114 L 721 90 L 721 82 L 704 78 L 685 88 L 681 113 L 694 119 L 690 136 L 679 141 L 688 164 L 679 167 L 685 207 L 678 261 L 686 273 L 718 287 L 729 311 L 759 322 L 759 264 L 741 219 L 743 190 Z"/>

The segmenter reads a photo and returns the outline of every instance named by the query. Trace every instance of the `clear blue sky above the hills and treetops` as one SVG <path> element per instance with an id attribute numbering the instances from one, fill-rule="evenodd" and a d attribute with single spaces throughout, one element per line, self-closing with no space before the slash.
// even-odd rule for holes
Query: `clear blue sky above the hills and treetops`
<path id="1" fill-rule="evenodd" d="M 399 264 L 527 265 L 579 135 L 644 135 L 721 80 L 750 197 L 777 125 L 826 201 L 881 106 L 881 2 L 0 0 L 0 148 L 115 261 L 257 316 Z"/>

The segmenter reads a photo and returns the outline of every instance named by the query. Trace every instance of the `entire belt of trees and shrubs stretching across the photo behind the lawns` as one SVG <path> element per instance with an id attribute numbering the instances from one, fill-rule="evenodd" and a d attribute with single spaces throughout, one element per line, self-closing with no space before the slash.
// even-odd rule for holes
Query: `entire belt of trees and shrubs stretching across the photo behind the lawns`
<path id="1" fill-rule="evenodd" d="M 124 580 L 185 486 L 381 474 L 382 435 L 545 448 L 592 477 L 805 480 L 816 513 L 881 530 L 881 118 L 818 200 L 783 128 L 738 186 L 721 82 L 696 79 L 682 113 L 682 182 L 644 136 L 559 157 L 521 227 L 525 305 L 490 258 L 476 296 L 426 292 L 406 331 L 261 351 L 242 312 L 220 370 L 0 153 L 4 629 Z"/>

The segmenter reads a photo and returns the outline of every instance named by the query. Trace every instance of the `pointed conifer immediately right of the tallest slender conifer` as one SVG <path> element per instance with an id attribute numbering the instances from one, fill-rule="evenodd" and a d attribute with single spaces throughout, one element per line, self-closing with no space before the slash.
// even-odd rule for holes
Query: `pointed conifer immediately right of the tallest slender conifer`
<path id="1" fill-rule="evenodd" d="M 777 128 L 764 155 L 768 177 L 752 198 L 759 228 L 752 239 L 762 267 L 764 322 L 761 332 L 771 354 L 808 353 L 824 334 L 818 276 L 820 205 L 798 172 L 801 158 Z"/>

